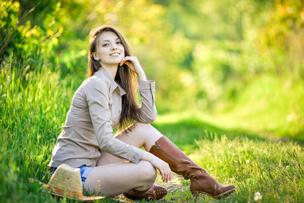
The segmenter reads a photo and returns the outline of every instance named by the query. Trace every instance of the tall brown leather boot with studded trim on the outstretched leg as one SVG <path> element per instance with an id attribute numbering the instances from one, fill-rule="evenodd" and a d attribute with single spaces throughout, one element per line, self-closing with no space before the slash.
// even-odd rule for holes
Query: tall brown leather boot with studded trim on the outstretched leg
<path id="1" fill-rule="evenodd" d="M 150 153 L 166 161 L 174 173 L 182 175 L 186 180 L 190 179 L 190 191 L 196 198 L 199 197 L 199 193 L 204 193 L 220 199 L 236 190 L 234 185 L 219 184 L 204 168 L 189 159 L 165 136 L 156 141 Z"/>

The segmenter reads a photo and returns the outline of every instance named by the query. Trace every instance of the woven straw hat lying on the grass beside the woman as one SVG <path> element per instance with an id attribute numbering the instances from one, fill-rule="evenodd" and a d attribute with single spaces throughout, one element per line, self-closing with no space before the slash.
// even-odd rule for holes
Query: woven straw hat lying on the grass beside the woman
<path id="1" fill-rule="evenodd" d="M 44 184 L 44 183 L 43 183 Z M 80 177 L 80 168 L 73 168 L 67 164 L 61 164 L 52 175 L 48 185 L 44 184 L 56 196 L 94 201 L 103 199 L 103 196 L 84 196 L 83 185 Z"/>

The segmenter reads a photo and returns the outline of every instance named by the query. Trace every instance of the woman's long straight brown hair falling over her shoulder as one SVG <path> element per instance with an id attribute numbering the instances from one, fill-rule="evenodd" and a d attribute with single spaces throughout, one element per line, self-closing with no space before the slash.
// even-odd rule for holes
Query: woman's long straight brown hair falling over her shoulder
<path id="1" fill-rule="evenodd" d="M 93 57 L 93 52 L 96 52 L 98 46 L 98 37 L 105 31 L 112 31 L 121 40 L 122 45 L 125 48 L 125 56 L 133 56 L 130 46 L 122 34 L 114 27 L 109 25 L 103 25 L 101 27 L 93 28 L 90 31 L 90 44 L 89 44 L 89 55 L 88 55 L 88 77 L 91 77 L 97 72 L 101 66 L 98 60 Z M 139 118 L 139 108 L 136 101 L 136 92 L 138 90 L 138 82 L 136 74 L 129 69 L 126 64 L 118 67 L 115 81 L 124 88 L 126 94 L 122 96 L 122 113 L 119 121 L 119 131 L 122 132 L 124 128 L 133 127 L 133 121 Z"/>

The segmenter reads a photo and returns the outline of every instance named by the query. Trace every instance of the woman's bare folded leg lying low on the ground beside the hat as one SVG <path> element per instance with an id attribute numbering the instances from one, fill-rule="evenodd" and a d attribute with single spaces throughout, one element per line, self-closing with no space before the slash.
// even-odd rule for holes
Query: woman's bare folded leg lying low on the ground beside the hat
<path id="1" fill-rule="evenodd" d="M 85 188 L 107 196 L 117 196 L 133 189 L 149 189 L 157 177 L 155 167 L 148 161 L 112 163 L 93 167 L 85 181 Z"/>

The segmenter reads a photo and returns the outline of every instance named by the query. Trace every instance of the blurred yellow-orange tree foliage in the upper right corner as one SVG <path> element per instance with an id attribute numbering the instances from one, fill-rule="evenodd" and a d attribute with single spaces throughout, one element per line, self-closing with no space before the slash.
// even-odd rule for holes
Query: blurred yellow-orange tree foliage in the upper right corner
<path id="1" fill-rule="evenodd" d="M 267 23 L 258 33 L 257 47 L 267 67 L 276 74 L 304 78 L 304 2 L 275 1 Z"/>

